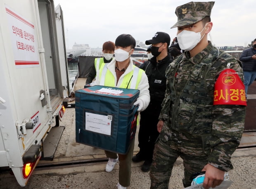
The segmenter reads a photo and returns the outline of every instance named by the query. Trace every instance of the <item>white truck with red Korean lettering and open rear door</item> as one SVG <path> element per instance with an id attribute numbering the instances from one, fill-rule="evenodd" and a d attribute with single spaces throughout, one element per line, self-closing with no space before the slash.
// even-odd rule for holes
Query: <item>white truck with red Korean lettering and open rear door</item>
<path id="1" fill-rule="evenodd" d="M 0 0 L 0 168 L 24 187 L 52 160 L 69 96 L 63 15 L 53 0 Z"/>

